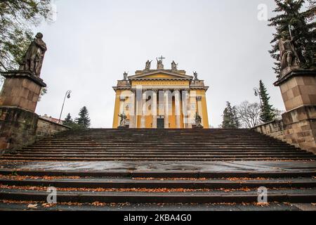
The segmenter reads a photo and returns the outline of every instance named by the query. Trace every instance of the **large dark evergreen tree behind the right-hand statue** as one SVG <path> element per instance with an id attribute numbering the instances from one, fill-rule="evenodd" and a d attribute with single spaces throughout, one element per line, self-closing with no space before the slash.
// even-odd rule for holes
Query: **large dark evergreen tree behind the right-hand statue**
<path id="1" fill-rule="evenodd" d="M 276 33 L 271 41 L 272 50 L 269 51 L 272 58 L 280 61 L 279 56 L 279 39 L 282 34 L 289 37 L 289 25 L 294 28 L 291 30 L 294 38 L 294 46 L 296 48 L 298 58 L 301 61 L 301 68 L 315 68 L 315 51 L 316 51 L 316 23 L 315 18 L 315 0 L 308 0 L 310 6 L 307 10 L 302 11 L 305 0 L 275 0 L 277 15 L 271 18 L 270 25 L 275 27 Z M 275 63 L 275 72 L 279 74 L 280 63 Z"/>

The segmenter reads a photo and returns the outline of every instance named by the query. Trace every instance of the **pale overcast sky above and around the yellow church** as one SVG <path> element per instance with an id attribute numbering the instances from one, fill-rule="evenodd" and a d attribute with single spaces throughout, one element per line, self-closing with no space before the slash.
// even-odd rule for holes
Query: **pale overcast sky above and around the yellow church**
<path id="1" fill-rule="evenodd" d="M 48 45 L 41 77 L 48 85 L 37 106 L 39 115 L 59 117 L 65 92 L 67 113 L 77 117 L 86 105 L 92 127 L 112 127 L 112 86 L 123 72 L 133 75 L 147 59 L 166 57 L 188 75 L 197 70 L 207 91 L 209 120 L 218 127 L 225 102 L 258 102 L 253 88 L 263 79 L 271 103 L 284 110 L 270 58 L 274 29 L 259 21 L 258 5 L 275 8 L 273 0 L 60 0 L 55 23 L 44 23 Z M 156 66 L 156 63 L 152 65 Z"/>

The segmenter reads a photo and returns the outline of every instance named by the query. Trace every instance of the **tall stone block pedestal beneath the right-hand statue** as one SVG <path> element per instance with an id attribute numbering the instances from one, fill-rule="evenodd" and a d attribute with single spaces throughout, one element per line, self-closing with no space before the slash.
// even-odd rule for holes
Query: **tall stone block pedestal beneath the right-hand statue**
<path id="1" fill-rule="evenodd" d="M 282 115 L 284 141 L 316 153 L 316 70 L 294 70 L 280 77 L 287 112 Z"/>

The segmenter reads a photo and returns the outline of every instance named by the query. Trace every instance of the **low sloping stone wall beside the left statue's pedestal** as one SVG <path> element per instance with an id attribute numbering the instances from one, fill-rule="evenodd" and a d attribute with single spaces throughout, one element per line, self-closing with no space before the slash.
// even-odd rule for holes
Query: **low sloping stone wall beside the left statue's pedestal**
<path id="1" fill-rule="evenodd" d="M 50 120 L 39 117 L 37 122 L 37 137 L 52 136 L 61 131 L 67 131 L 70 127 L 67 127 Z"/>

